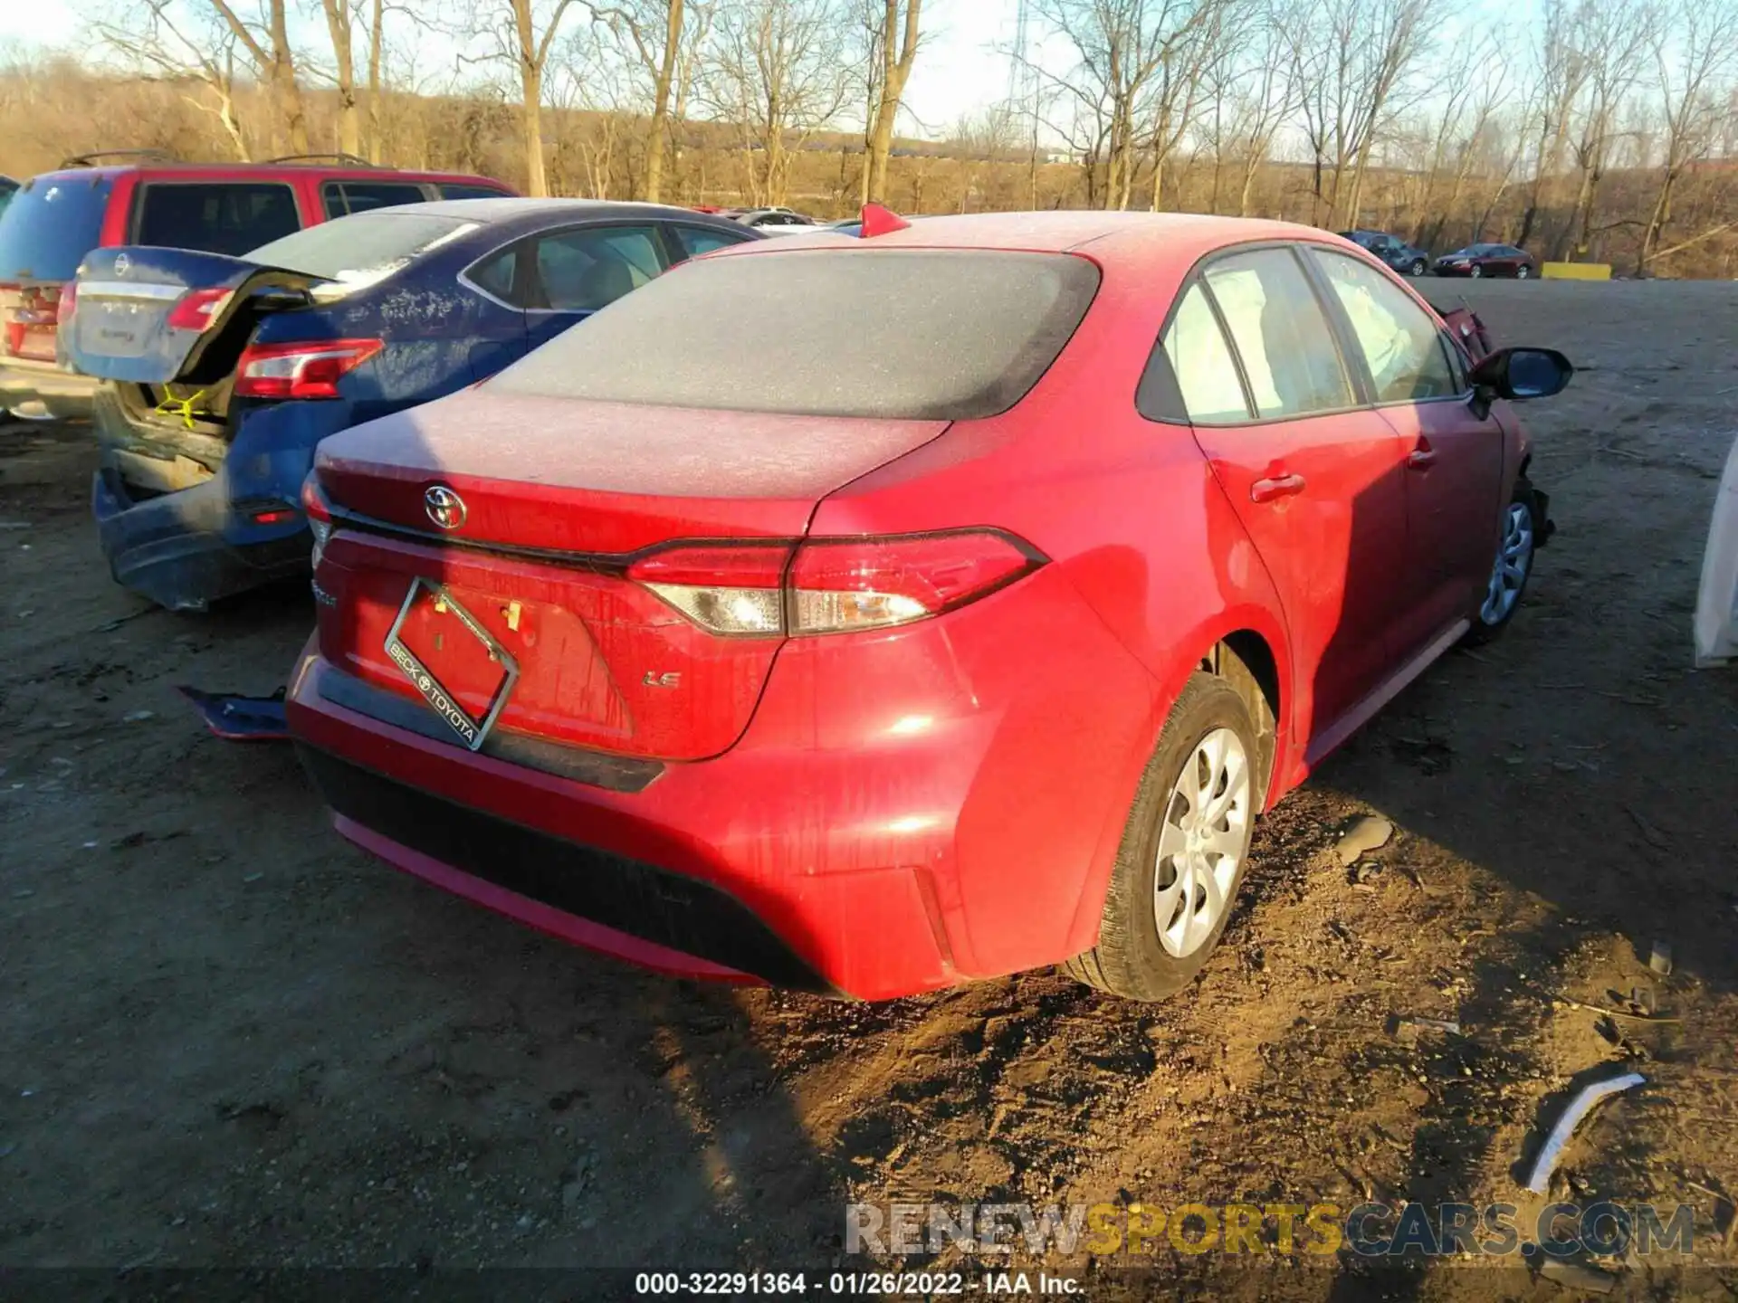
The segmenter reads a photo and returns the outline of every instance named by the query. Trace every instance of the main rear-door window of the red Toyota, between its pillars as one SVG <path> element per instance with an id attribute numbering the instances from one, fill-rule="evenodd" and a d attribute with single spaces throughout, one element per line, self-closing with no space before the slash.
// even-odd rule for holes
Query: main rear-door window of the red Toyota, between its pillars
<path id="1" fill-rule="evenodd" d="M 1328 318 L 1290 248 L 1222 257 L 1206 285 L 1243 360 L 1262 417 L 1295 417 L 1354 405 Z"/>

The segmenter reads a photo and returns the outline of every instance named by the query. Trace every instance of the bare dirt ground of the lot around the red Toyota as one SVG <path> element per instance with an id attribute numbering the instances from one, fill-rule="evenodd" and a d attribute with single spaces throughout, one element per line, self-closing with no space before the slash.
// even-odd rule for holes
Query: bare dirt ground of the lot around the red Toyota
<path id="1" fill-rule="evenodd" d="M 1738 671 L 1689 669 L 1738 287 L 1467 295 L 1580 367 L 1526 412 L 1559 533 L 1505 638 L 1264 822 L 1224 945 L 1163 1006 L 1057 973 L 881 1006 L 673 983 L 421 886 L 328 829 L 287 747 L 219 742 L 172 691 L 278 686 L 306 592 L 144 608 L 96 547 L 89 431 L 0 426 L 0 1293 L 24 1267 L 109 1293 L 184 1267 L 826 1270 L 848 1200 L 1522 1202 L 1540 1117 L 1634 1060 L 1568 1197 L 1693 1204 L 1700 1267 L 1616 1263 L 1622 1291 L 1738 1298 Z M 1397 832 L 1347 870 L 1361 811 Z M 1663 1016 L 1568 1002 L 1632 989 Z M 1343 1254 L 1048 1265 L 1091 1298 L 1564 1293 Z"/>

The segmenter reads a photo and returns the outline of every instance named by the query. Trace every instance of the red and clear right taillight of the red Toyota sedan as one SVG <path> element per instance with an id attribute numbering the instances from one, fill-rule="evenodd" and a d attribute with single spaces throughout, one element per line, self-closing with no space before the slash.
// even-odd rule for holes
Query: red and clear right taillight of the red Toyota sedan
<path id="1" fill-rule="evenodd" d="M 733 636 L 886 629 L 956 610 L 1045 565 L 994 530 L 810 539 L 787 544 L 683 544 L 634 561 L 645 584 L 702 629 Z"/>

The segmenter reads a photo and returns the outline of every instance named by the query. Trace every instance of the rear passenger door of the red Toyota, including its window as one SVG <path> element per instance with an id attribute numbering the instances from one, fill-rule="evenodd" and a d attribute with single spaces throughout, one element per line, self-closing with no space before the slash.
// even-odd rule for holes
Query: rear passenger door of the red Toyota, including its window
<path id="1" fill-rule="evenodd" d="M 1389 672 L 1403 606 L 1404 450 L 1363 405 L 1290 247 L 1211 261 L 1164 349 L 1206 453 L 1284 608 L 1310 759 Z"/>

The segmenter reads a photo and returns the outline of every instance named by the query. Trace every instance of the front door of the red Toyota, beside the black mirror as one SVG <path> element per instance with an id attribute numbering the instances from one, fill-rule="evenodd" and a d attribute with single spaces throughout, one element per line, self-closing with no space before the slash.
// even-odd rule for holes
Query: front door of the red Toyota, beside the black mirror
<path id="1" fill-rule="evenodd" d="M 1502 506 L 1503 431 L 1472 410 L 1465 370 L 1441 325 L 1387 276 L 1326 248 L 1310 257 L 1368 372 L 1383 420 L 1401 438 L 1406 485 L 1404 658 L 1469 617 L 1489 579 Z"/>

